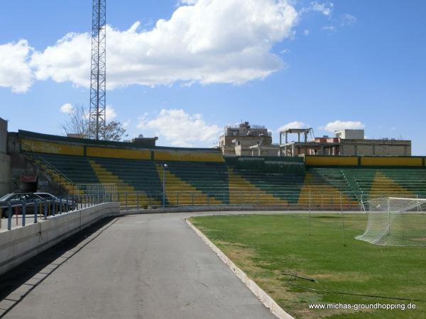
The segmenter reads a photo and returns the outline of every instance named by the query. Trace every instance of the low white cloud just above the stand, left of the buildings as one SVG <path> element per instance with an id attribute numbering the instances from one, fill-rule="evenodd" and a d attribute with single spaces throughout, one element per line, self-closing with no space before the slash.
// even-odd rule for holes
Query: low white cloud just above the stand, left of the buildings
<path id="1" fill-rule="evenodd" d="M 209 125 L 201 114 L 188 114 L 182 109 L 163 109 L 158 116 L 147 119 L 147 114 L 139 118 L 137 128 L 152 130 L 155 135 L 165 138 L 171 145 L 192 147 L 194 145 L 209 146 L 218 138 L 220 128 Z"/>

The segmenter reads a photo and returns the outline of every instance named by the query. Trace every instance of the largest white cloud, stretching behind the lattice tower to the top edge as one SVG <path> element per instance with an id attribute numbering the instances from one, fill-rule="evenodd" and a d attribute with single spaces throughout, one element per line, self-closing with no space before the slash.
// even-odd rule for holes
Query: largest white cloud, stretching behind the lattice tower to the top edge
<path id="1" fill-rule="evenodd" d="M 182 2 L 182 1 L 181 1 Z M 107 85 L 175 82 L 242 84 L 283 67 L 271 52 L 293 35 L 298 13 L 287 0 L 183 1 L 152 30 L 107 27 Z M 191 5 L 192 4 L 192 5 Z M 40 80 L 89 85 L 90 36 L 69 33 L 31 59 Z"/>

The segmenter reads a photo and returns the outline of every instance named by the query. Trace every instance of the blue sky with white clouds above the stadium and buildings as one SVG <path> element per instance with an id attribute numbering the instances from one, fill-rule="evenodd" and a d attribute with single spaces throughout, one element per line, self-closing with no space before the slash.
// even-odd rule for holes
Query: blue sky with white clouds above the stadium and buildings
<path id="1" fill-rule="evenodd" d="M 0 117 L 63 135 L 89 106 L 92 1 L 0 1 Z M 364 128 L 426 155 L 426 1 L 108 0 L 107 121 L 213 147 L 224 125 Z"/>

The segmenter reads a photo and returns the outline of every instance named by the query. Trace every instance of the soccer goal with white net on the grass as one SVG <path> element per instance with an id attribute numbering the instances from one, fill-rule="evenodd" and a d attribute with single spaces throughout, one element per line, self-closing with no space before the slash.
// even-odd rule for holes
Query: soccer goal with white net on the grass
<path id="1" fill-rule="evenodd" d="M 367 226 L 356 239 L 374 245 L 426 246 L 426 199 L 381 197 L 363 206 Z"/>

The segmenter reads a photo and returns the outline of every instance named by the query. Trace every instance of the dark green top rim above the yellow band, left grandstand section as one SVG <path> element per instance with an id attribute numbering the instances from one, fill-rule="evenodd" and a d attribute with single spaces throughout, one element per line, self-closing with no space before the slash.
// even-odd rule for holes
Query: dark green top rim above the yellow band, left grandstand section
<path id="1" fill-rule="evenodd" d="M 35 133 L 28 130 L 18 130 L 18 137 L 32 138 L 35 140 L 47 140 L 49 142 L 72 142 L 80 145 L 94 146 L 94 147 L 117 147 L 117 148 L 132 148 L 138 150 L 188 150 L 188 151 L 204 151 L 204 152 L 220 152 L 219 149 L 206 148 L 206 147 L 170 147 L 170 146 L 155 146 L 143 147 L 134 145 L 132 142 L 116 142 L 104 140 L 88 140 L 85 138 L 68 138 L 60 135 L 50 135 L 43 133 Z"/>

